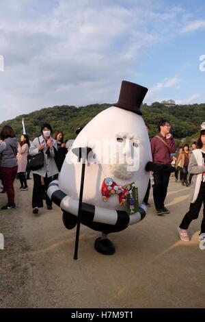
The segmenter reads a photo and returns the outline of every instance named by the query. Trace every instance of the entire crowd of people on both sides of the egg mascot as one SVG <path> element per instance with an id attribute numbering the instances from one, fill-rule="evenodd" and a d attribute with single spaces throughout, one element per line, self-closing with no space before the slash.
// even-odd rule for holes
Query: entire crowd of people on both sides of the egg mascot
<path id="1" fill-rule="evenodd" d="M 147 130 L 149 132 L 149 126 Z M 169 184 L 169 166 L 173 167 L 175 182 L 180 181 L 182 186 L 190 186 L 190 207 L 184 215 L 178 227 L 178 233 L 182 240 L 189 241 L 188 227 L 193 219 L 197 219 L 202 203 L 204 203 L 203 219 L 200 232 L 200 243 L 205 243 L 205 122 L 202 123 L 197 141 L 193 141 L 191 151 L 189 145 L 180 146 L 176 151 L 176 144 L 170 132 L 171 125 L 168 120 L 161 119 L 158 124 L 159 134 L 150 140 L 152 159 L 156 164 L 164 164 L 165 170 L 150 173 L 150 181 L 143 203 L 150 206 L 148 198 L 150 187 L 153 186 L 154 206 L 156 214 L 163 216 L 169 214 L 165 207 L 165 198 Z M 79 129 L 77 129 L 77 134 Z M 27 134 L 16 138 L 14 129 L 9 125 L 3 126 L 0 133 L 0 179 L 2 183 L 1 193 L 6 193 L 8 203 L 1 210 L 15 209 L 14 179 L 20 181 L 19 189 L 27 190 L 29 179 L 29 158 L 42 154 L 43 164 L 33 170 L 33 214 L 38 214 L 39 208 L 43 207 L 43 199 L 46 208 L 52 210 L 52 201 L 46 195 L 47 188 L 53 179 L 57 179 L 61 166 L 64 163 L 68 146 L 64 142 L 64 134 L 53 129 L 49 123 L 44 123 L 40 128 L 40 136 L 31 142 Z M 168 171 L 166 169 L 169 169 Z M 188 179 L 189 178 L 189 179 Z M 202 244 L 201 244 L 202 245 Z M 204 244 L 203 244 L 204 245 Z M 205 248 L 205 245 L 204 245 Z"/>

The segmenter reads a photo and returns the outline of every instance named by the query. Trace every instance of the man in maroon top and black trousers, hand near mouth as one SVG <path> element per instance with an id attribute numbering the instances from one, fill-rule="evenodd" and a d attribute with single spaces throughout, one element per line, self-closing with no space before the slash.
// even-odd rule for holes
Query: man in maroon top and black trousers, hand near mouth
<path id="1" fill-rule="evenodd" d="M 153 162 L 156 164 L 171 164 L 171 153 L 175 153 L 176 145 L 172 134 L 170 133 L 171 125 L 169 121 L 161 119 L 158 123 L 159 134 L 151 140 L 151 150 Z M 169 214 L 165 208 L 164 202 L 167 195 L 167 186 L 169 184 L 170 173 L 154 172 L 153 197 L 156 214 Z"/>

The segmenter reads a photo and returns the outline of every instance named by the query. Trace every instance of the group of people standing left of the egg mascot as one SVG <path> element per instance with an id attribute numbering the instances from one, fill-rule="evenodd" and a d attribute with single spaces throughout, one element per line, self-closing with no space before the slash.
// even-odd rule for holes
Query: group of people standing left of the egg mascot
<path id="1" fill-rule="evenodd" d="M 19 189 L 27 190 L 29 179 L 29 158 L 43 153 L 43 166 L 33 170 L 33 214 L 38 214 L 38 208 L 43 207 L 43 199 L 46 199 L 48 210 L 52 209 L 52 202 L 46 195 L 49 183 L 57 179 L 61 166 L 66 158 L 68 149 L 64 143 L 64 134 L 56 131 L 54 138 L 51 134 L 53 129 L 49 123 L 44 123 L 40 128 L 41 135 L 29 141 L 27 134 L 22 134 L 20 140 L 16 138 L 14 129 L 5 125 L 0 133 L 0 179 L 2 184 L 1 193 L 6 193 L 8 203 L 1 210 L 15 209 L 14 179 L 20 181 Z"/>

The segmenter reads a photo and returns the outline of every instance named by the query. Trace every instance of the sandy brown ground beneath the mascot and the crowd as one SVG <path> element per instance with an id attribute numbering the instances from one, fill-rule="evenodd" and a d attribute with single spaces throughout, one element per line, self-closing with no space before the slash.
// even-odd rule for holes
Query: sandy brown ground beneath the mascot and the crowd
<path id="1" fill-rule="evenodd" d="M 189 188 L 172 178 L 171 213 L 156 216 L 151 197 L 143 221 L 110 235 L 113 256 L 97 253 L 100 234 L 81 225 L 79 260 L 73 260 L 75 230 L 66 230 L 57 206 L 33 215 L 33 180 L 28 183 L 29 191 L 16 189 L 16 210 L 0 210 L 1 308 L 204 308 L 205 251 L 197 241 L 202 212 L 190 226 L 190 243 L 176 231 Z M 5 200 L 0 195 L 0 206 Z"/>

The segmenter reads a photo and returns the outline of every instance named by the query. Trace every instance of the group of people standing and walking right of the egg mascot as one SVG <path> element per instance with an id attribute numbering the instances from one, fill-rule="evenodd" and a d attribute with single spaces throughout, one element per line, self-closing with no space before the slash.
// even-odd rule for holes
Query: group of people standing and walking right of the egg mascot
<path id="1" fill-rule="evenodd" d="M 149 132 L 149 126 L 147 130 Z M 205 249 L 205 122 L 202 123 L 197 141 L 193 141 L 191 151 L 189 145 L 180 146 L 176 153 L 174 138 L 170 133 L 171 125 L 169 121 L 162 119 L 158 124 L 159 134 L 150 140 L 152 158 L 155 163 L 172 164 L 174 167 L 175 182 L 180 180 L 182 186 L 190 186 L 190 206 L 189 211 L 184 215 L 182 222 L 178 227 L 178 234 L 181 240 L 189 241 L 188 227 L 197 219 L 204 204 L 203 219 L 200 231 L 200 248 Z M 189 181 L 187 179 L 189 174 Z M 179 179 L 178 179 L 179 175 Z M 165 208 L 165 198 L 169 184 L 170 172 L 150 173 L 150 181 L 143 202 L 150 207 L 148 203 L 150 187 L 153 186 L 154 206 L 156 214 L 162 216 L 169 214 Z"/>

